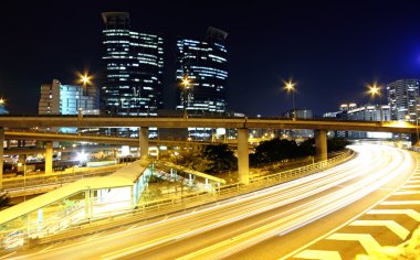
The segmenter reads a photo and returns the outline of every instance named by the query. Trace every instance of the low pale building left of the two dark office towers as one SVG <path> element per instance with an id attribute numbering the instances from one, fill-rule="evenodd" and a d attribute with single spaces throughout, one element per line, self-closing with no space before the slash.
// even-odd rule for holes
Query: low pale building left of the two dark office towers
<path id="1" fill-rule="evenodd" d="M 98 115 L 99 96 L 94 86 L 62 85 L 57 79 L 41 85 L 39 115 Z"/>

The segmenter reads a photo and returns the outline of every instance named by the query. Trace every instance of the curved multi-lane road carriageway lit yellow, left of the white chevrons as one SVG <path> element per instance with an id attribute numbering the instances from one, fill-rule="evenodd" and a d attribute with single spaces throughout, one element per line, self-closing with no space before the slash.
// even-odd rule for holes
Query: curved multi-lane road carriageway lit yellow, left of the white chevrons
<path id="1" fill-rule="evenodd" d="M 305 249 L 315 241 L 332 236 L 337 238 L 329 239 L 333 243 L 344 241 L 339 234 L 330 235 L 334 230 L 348 224 L 366 227 L 366 221 L 351 220 L 395 193 L 417 166 L 408 152 L 393 148 L 354 149 L 354 160 L 300 180 L 149 223 L 10 251 L 0 259 L 311 259 L 324 250 Z M 353 254 L 366 249 L 351 248 Z"/>

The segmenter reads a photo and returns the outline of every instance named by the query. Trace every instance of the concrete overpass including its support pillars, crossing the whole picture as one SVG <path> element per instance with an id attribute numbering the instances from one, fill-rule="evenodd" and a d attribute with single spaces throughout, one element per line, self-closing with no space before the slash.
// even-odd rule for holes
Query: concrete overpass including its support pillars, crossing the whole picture
<path id="1" fill-rule="evenodd" d="M 150 127 L 157 128 L 235 128 L 238 129 L 238 172 L 240 182 L 249 183 L 249 144 L 248 129 L 312 129 L 315 130 L 316 153 L 321 159 L 327 158 L 326 133 L 329 130 L 379 131 L 418 133 L 418 127 L 408 122 L 387 121 L 342 121 L 342 120 L 293 120 L 284 118 L 232 118 L 232 117 L 101 117 L 101 116 L 0 116 L 0 158 L 3 155 L 4 128 L 126 128 L 138 127 L 140 158 L 148 156 L 148 132 Z M 93 137 L 92 137 L 93 138 Z M 93 140 L 93 139 L 91 139 Z M 115 140 L 116 142 L 123 140 Z M 124 140 L 125 141 L 125 140 Z M 136 142 L 137 142 L 136 141 Z M 93 141 L 95 142 L 95 141 Z M 52 143 L 46 142 L 45 171 L 52 169 Z M 2 160 L 0 160 L 2 171 Z M 2 175 L 2 172 L 0 176 Z"/>

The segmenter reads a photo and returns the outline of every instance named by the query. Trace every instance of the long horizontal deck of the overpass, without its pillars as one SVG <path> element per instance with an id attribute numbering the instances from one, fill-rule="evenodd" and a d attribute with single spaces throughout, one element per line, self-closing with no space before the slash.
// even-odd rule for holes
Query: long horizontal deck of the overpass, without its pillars
<path id="1" fill-rule="evenodd" d="M 343 121 L 321 119 L 275 119 L 275 118 L 174 118 L 174 117 L 98 117 L 98 116 L 0 116 L 2 128 L 237 128 L 237 129 L 312 129 L 312 130 L 354 130 L 379 132 L 416 133 L 412 123 L 398 121 Z"/>

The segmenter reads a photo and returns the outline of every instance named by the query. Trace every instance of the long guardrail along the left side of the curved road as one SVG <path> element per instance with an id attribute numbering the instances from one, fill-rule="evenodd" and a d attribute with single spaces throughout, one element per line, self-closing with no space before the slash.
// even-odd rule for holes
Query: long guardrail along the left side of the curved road
<path id="1" fill-rule="evenodd" d="M 88 221 L 80 223 L 80 225 L 73 226 L 56 235 L 30 239 L 28 245 L 34 246 L 39 243 L 50 243 L 53 241 L 75 238 L 87 234 L 94 234 L 98 230 L 144 221 L 157 216 L 165 216 L 175 212 L 185 212 L 192 207 L 203 206 L 209 203 L 222 201 L 240 194 L 251 193 L 280 183 L 288 182 L 291 180 L 303 177 L 315 172 L 319 172 L 322 170 L 326 170 L 328 167 L 332 167 L 351 159 L 354 154 L 354 151 L 347 150 L 340 155 L 337 155 L 333 159 L 323 162 L 317 162 L 294 170 L 253 177 L 249 185 L 234 183 L 230 185 L 216 187 L 216 192 L 210 194 L 207 192 L 196 192 L 185 194 L 179 197 L 143 203 L 138 205 L 135 210 L 120 212 L 118 215 L 115 215 L 115 212 L 113 212 L 109 213 L 108 216 L 102 216 L 98 219 L 90 219 Z"/>

